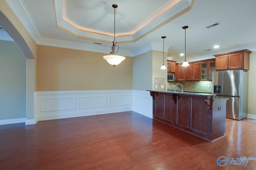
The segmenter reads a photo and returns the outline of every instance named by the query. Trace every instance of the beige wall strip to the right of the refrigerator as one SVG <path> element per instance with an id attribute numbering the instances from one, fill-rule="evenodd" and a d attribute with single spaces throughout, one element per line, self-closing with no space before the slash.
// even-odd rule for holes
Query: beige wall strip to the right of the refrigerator
<path id="1" fill-rule="evenodd" d="M 248 114 L 256 115 L 256 52 L 250 54 L 250 70 L 248 85 Z"/>

